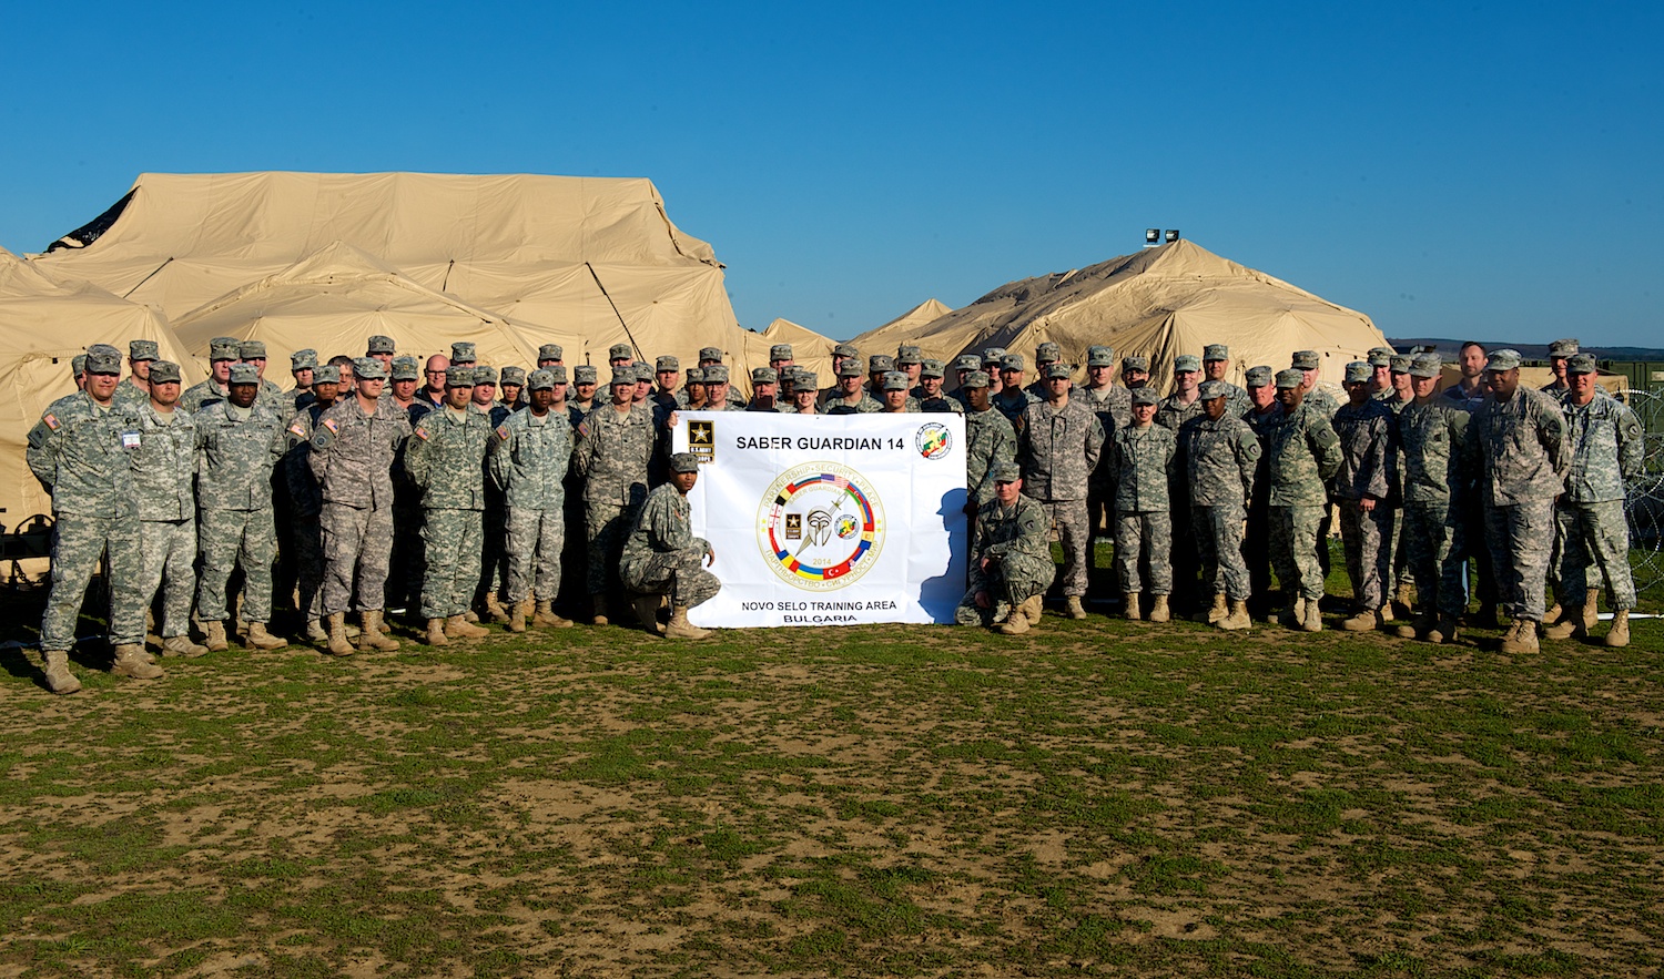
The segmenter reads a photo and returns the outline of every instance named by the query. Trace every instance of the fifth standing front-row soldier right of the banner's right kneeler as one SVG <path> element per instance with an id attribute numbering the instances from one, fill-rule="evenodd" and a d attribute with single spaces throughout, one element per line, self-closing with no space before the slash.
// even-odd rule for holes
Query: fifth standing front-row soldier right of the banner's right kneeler
<path id="1" fill-rule="evenodd" d="M 1330 495 L 1341 512 L 1341 545 L 1346 549 L 1354 607 L 1354 615 L 1341 622 L 1346 632 L 1384 625 L 1381 608 L 1393 573 L 1398 426 L 1393 409 L 1371 397 L 1371 377 L 1366 361 L 1346 364 L 1348 401 L 1335 412 L 1333 422 L 1341 440 L 1341 467 L 1330 480 Z"/>

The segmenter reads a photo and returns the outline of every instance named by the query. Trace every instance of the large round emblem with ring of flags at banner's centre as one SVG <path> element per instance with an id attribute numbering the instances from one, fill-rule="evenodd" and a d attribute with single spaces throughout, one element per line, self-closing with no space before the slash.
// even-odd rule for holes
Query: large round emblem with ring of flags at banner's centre
<path id="1" fill-rule="evenodd" d="M 757 545 L 780 580 L 797 588 L 842 588 L 860 580 L 884 547 L 884 504 L 847 465 L 794 465 L 762 497 Z"/>

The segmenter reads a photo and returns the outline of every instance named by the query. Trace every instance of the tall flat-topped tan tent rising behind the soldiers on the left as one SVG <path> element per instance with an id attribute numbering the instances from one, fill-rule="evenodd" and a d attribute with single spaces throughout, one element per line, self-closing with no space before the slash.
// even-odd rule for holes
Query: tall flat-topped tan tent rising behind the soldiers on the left
<path id="1" fill-rule="evenodd" d="M 647 180 L 146 173 L 35 261 L 178 319 L 336 243 L 488 311 L 532 349 L 566 339 L 567 364 L 604 362 L 614 342 L 689 361 L 744 349 L 722 264 Z"/>

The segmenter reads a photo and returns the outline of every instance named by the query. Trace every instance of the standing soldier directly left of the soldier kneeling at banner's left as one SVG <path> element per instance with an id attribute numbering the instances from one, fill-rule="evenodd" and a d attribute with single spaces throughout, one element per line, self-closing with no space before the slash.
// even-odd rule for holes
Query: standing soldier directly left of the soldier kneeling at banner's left
<path id="1" fill-rule="evenodd" d="M 712 371 L 721 372 L 722 387 L 727 387 L 727 367 L 714 364 L 706 367 L 706 376 Z M 607 590 L 616 580 L 619 552 L 636 510 L 647 499 L 647 465 L 656 434 L 647 409 L 631 404 L 634 387 L 634 371 L 614 371 L 612 402 L 584 417 L 572 450 L 577 474 L 584 479 L 587 583 L 596 625 L 607 625 Z M 719 391 L 712 391 L 712 401 L 724 404 Z"/>

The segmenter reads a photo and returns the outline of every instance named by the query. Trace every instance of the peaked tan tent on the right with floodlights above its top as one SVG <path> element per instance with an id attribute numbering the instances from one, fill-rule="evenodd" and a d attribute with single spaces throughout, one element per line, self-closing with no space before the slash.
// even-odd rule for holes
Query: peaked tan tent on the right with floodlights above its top
<path id="1" fill-rule="evenodd" d="M 1338 384 L 1346 361 L 1386 337 L 1368 316 L 1281 279 L 1176 241 L 1068 273 L 1007 283 L 970 306 L 920 327 L 882 326 L 855 337 L 862 354 L 904 342 L 950 361 L 962 352 L 1007 347 L 1032 359 L 1038 344 L 1062 344 L 1083 364 L 1087 347 L 1110 344 L 1118 357 L 1146 356 L 1155 382 L 1171 384 L 1173 357 L 1231 347 L 1230 379 L 1255 364 L 1286 367 L 1293 351 L 1318 351 L 1321 379 Z"/>

